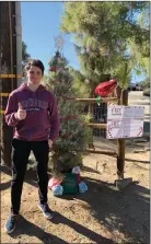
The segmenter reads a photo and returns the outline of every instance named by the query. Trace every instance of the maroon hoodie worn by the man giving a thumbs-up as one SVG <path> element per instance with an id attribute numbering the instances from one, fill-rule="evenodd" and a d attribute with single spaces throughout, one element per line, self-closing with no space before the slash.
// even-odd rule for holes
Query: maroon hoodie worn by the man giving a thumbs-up
<path id="1" fill-rule="evenodd" d="M 26 111 L 26 118 L 19 120 L 20 106 Z M 57 102 L 51 92 L 42 84 L 33 92 L 23 83 L 14 90 L 5 109 L 8 126 L 15 127 L 14 138 L 27 141 L 55 140 L 59 135 L 59 115 Z"/>

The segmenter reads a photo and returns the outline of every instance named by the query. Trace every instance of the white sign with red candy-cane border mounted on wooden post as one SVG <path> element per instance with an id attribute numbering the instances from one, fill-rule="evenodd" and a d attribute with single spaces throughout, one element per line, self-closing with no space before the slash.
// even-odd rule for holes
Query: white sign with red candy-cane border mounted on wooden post
<path id="1" fill-rule="evenodd" d="M 119 106 L 107 107 L 107 139 L 142 137 L 144 107 Z"/>

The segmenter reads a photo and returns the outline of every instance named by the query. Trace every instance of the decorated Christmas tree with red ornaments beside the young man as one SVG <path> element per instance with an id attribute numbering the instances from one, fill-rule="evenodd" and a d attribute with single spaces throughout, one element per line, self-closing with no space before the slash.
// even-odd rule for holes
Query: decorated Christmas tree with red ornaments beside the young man
<path id="1" fill-rule="evenodd" d="M 50 163 L 57 173 L 70 172 L 73 166 L 82 165 L 90 139 L 90 129 L 85 126 L 90 115 L 85 116 L 84 104 L 76 101 L 73 78 L 59 50 L 49 61 L 49 78 L 45 85 L 56 95 L 60 115 L 60 135 L 54 143 Z"/>

